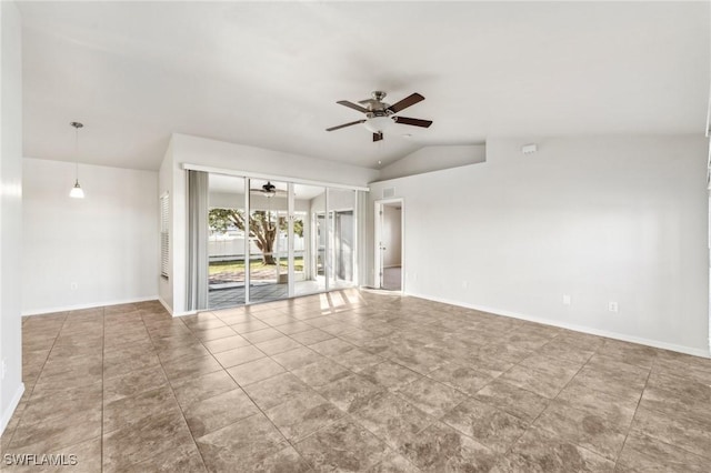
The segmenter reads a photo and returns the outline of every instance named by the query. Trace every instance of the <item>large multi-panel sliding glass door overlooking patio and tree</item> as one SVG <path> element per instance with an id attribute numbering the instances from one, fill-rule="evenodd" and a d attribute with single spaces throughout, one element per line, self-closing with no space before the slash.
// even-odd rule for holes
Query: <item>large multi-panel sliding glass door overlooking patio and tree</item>
<path id="1" fill-rule="evenodd" d="M 208 306 L 352 286 L 357 191 L 211 173 Z"/>

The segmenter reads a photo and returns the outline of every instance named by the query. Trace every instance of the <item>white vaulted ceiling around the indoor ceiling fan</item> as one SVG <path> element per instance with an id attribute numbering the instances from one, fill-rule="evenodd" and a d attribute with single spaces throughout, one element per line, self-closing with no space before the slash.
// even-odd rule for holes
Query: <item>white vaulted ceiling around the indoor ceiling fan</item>
<path id="1" fill-rule="evenodd" d="M 159 168 L 171 132 L 377 168 L 489 138 L 703 133 L 709 2 L 22 2 L 24 154 Z M 373 143 L 336 103 L 427 100 Z M 70 121 L 82 121 L 78 158 Z M 403 137 L 410 133 L 411 137 Z"/>

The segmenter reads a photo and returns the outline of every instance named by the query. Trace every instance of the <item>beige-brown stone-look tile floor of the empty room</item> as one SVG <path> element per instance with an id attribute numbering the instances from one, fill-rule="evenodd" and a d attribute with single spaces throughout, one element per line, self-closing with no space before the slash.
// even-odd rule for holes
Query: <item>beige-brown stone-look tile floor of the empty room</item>
<path id="1" fill-rule="evenodd" d="M 107 306 L 24 319 L 23 349 L 2 452 L 71 472 L 711 464 L 711 360 L 414 298 Z"/>

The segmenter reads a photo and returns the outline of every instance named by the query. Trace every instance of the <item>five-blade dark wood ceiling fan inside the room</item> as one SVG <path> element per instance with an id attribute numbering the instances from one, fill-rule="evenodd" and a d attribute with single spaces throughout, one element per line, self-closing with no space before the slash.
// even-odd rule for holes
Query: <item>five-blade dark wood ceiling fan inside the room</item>
<path id="1" fill-rule="evenodd" d="M 415 92 L 391 105 L 390 103 L 385 103 L 382 101 L 385 95 L 385 92 L 377 90 L 372 92 L 371 99 L 365 99 L 358 102 L 361 103 L 362 107 L 357 103 L 349 102 L 348 100 L 339 100 L 336 103 L 365 113 L 365 118 L 362 120 L 352 121 L 350 123 L 339 124 L 338 127 L 327 128 L 326 131 L 340 130 L 341 128 L 362 123 L 369 131 L 373 133 L 373 141 L 380 141 L 383 139 L 383 131 L 392 123 L 411 124 L 413 127 L 422 128 L 429 128 L 432 124 L 431 120 L 420 120 L 395 115 L 395 113 L 400 112 L 401 110 L 421 102 L 422 100 L 424 100 L 424 97 Z"/>

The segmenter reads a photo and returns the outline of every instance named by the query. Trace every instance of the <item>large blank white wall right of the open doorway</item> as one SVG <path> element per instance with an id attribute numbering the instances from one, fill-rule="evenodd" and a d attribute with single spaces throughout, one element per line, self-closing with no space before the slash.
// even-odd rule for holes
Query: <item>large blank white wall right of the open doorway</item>
<path id="1" fill-rule="evenodd" d="M 405 292 L 708 354 L 705 140 L 557 139 L 532 155 L 524 142 L 371 184 L 371 200 L 404 198 Z"/>

